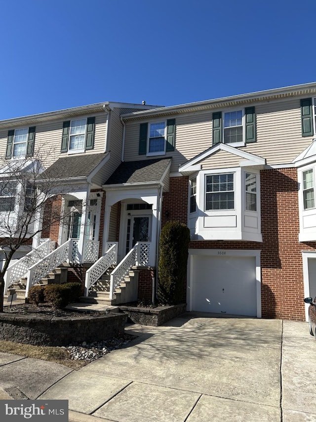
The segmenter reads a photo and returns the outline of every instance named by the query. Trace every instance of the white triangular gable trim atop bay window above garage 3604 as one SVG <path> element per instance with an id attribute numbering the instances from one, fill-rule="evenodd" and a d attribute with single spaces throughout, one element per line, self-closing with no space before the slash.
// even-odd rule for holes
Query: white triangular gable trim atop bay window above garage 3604
<path id="1" fill-rule="evenodd" d="M 251 154 L 250 152 L 243 151 L 239 148 L 228 145 L 227 143 L 220 142 L 216 145 L 211 146 L 200 154 L 197 154 L 195 157 L 191 158 L 191 160 L 187 161 L 186 163 L 182 164 L 179 167 L 179 172 L 183 175 L 188 175 L 190 173 L 194 173 L 196 171 L 201 170 L 200 162 L 205 160 L 205 158 L 208 158 L 209 156 L 215 154 L 219 150 L 223 150 L 231 153 L 232 155 L 236 155 L 237 157 L 243 158 L 243 161 L 239 162 L 240 167 L 257 167 L 262 169 L 266 166 L 265 158 L 259 157 L 259 155 Z"/>

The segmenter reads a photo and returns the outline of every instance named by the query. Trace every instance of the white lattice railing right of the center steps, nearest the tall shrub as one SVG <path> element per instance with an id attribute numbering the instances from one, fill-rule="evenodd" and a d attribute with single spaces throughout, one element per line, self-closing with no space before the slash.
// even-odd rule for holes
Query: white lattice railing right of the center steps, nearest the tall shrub
<path id="1" fill-rule="evenodd" d="M 110 299 L 114 297 L 114 291 L 124 279 L 126 274 L 134 267 L 146 266 L 150 257 L 150 242 L 139 242 L 128 252 L 128 254 L 120 261 L 117 268 L 112 271 L 110 279 Z"/>

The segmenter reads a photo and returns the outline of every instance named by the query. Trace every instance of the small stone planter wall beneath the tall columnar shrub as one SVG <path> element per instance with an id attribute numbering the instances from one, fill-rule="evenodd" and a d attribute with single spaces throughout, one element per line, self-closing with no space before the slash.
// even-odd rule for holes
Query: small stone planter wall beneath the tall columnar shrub
<path id="1" fill-rule="evenodd" d="M 157 308 L 138 308 L 136 306 L 119 306 L 135 324 L 158 327 L 186 312 L 186 304 L 159 306 Z"/>

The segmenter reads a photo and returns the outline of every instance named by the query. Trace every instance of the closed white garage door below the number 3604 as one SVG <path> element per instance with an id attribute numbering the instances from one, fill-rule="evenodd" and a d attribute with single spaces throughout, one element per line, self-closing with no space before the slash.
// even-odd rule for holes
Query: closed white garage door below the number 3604
<path id="1" fill-rule="evenodd" d="M 255 257 L 195 255 L 193 310 L 257 315 Z"/>

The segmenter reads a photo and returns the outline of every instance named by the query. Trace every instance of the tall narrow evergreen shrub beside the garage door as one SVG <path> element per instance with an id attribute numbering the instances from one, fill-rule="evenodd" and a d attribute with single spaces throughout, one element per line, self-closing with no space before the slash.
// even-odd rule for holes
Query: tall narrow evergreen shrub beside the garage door
<path id="1" fill-rule="evenodd" d="M 170 221 L 161 230 L 158 264 L 158 298 L 162 303 L 182 302 L 187 276 L 190 230 L 178 221 Z"/>

